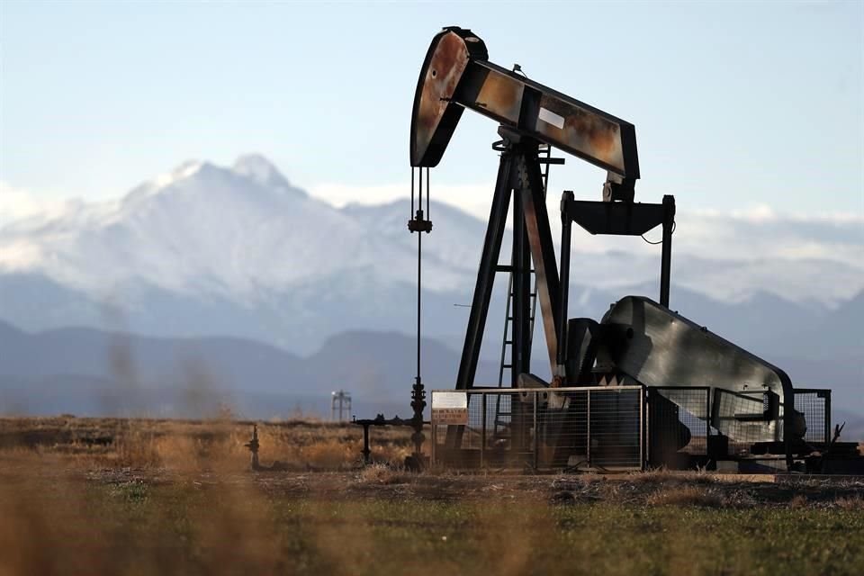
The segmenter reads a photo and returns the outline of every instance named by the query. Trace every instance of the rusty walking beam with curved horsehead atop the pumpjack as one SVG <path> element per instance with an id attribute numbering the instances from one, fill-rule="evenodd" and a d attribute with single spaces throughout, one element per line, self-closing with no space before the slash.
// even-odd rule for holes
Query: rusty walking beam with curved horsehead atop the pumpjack
<path id="1" fill-rule="evenodd" d="M 457 27 L 429 46 L 414 95 L 411 166 L 437 166 L 465 108 L 608 172 L 606 200 L 633 200 L 635 127 L 491 63 L 483 40 Z"/>

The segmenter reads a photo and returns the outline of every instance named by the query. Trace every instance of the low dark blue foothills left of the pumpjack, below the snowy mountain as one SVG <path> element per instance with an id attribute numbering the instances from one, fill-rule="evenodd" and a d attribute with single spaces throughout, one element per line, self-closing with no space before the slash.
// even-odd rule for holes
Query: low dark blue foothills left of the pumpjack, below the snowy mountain
<path id="1" fill-rule="evenodd" d="M 202 417 L 228 408 L 255 418 L 326 414 L 330 392 L 354 413 L 410 416 L 416 341 L 348 331 L 309 356 L 243 338 L 150 338 L 67 328 L 31 334 L 0 322 L 4 413 Z M 428 383 L 453 382 L 458 356 L 423 342 Z M 478 374 L 495 368 L 483 363 Z M 436 386 L 430 385 L 430 388 Z"/>

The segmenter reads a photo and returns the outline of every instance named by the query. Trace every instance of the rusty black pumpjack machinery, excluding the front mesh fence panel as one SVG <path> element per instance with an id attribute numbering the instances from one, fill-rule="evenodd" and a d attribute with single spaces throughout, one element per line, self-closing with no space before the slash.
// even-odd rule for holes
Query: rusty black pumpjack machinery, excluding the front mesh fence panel
<path id="1" fill-rule="evenodd" d="M 797 409 L 797 391 L 788 374 L 670 309 L 675 198 L 666 195 L 660 203 L 635 202 L 635 184 L 640 175 L 634 125 L 528 79 L 518 70 L 518 66 L 510 70 L 493 64 L 486 44 L 473 31 L 448 27 L 438 32 L 429 46 L 414 96 L 409 229 L 419 234 L 419 254 L 420 237 L 432 229 L 428 220 L 428 169 L 441 161 L 465 110 L 499 123 L 500 140 L 493 149 L 500 153 L 500 164 L 456 390 L 474 388 L 492 286 L 497 274 L 508 273 L 511 330 L 509 337 L 505 333 L 504 342 L 510 347 L 506 367 L 513 388 L 543 387 L 550 392 L 563 387 L 608 385 L 641 385 L 649 392 L 669 386 L 704 388 L 713 392 L 714 401 L 713 410 L 703 418 L 710 429 L 707 456 L 711 459 L 775 455 L 788 468 L 806 461 L 811 469 L 823 471 L 827 470 L 827 453 L 851 459 L 851 443 L 837 443 L 836 435 L 829 439 L 830 401 L 823 402 L 824 412 L 819 415 L 824 419 L 824 439 L 821 444 L 812 438 L 807 440 L 806 410 Z M 555 257 L 545 202 L 549 165 L 563 164 L 563 158 L 552 157 L 553 149 L 606 171 L 599 201 L 577 200 L 571 191 L 563 192 L 560 264 Z M 420 175 L 416 212 L 414 168 Z M 422 210 L 424 168 L 426 212 Z M 512 218 L 512 253 L 510 264 L 502 265 L 499 258 L 508 212 Z M 599 321 L 570 319 L 573 223 L 594 235 L 641 236 L 662 227 L 659 301 L 629 295 L 612 304 Z M 531 370 L 536 302 L 541 311 L 551 382 L 543 381 Z M 423 440 L 420 426 L 426 406 L 419 352 L 418 295 L 418 375 L 412 393 L 418 448 Z M 830 399 L 830 392 L 805 392 L 819 392 L 819 398 Z M 650 423 L 653 431 L 648 436 L 655 445 L 652 464 L 677 467 L 680 460 L 675 459 L 675 453 L 689 440 L 686 430 L 676 429 L 683 426 L 683 408 L 660 394 L 649 393 L 647 397 L 655 403 L 651 414 L 658 420 Z M 517 428 L 518 422 L 524 421 L 518 412 L 525 409 L 514 402 L 511 410 L 510 421 Z M 576 401 L 567 398 L 546 405 L 544 410 L 579 411 Z M 662 420 L 669 420 L 665 428 Z M 673 431 L 673 446 L 668 446 L 669 434 L 664 437 L 659 431 L 662 429 Z M 463 426 L 448 427 L 446 445 L 457 448 L 463 434 Z M 514 430 L 511 438 L 516 442 L 520 435 L 525 437 L 525 431 Z M 566 453 L 567 446 L 555 446 L 555 450 Z"/>

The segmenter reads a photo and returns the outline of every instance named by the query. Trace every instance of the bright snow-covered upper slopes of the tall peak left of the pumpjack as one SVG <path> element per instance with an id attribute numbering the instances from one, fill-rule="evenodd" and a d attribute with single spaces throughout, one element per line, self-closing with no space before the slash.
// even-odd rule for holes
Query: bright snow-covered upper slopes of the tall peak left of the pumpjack
<path id="1" fill-rule="evenodd" d="M 44 275 L 105 298 L 143 282 L 254 305 L 266 293 L 374 270 L 410 280 L 413 255 L 288 183 L 263 157 L 230 167 L 187 162 L 119 202 L 74 203 L 0 232 L 0 271 Z M 430 269 L 433 289 L 454 287 Z"/>

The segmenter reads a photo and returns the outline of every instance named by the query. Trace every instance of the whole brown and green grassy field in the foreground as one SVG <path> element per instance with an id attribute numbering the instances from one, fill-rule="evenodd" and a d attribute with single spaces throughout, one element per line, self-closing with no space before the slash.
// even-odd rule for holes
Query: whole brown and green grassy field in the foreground
<path id="1" fill-rule="evenodd" d="M 5 574 L 859 574 L 864 482 L 407 473 L 407 429 L 0 419 Z"/>

